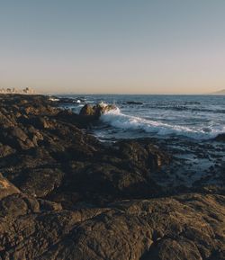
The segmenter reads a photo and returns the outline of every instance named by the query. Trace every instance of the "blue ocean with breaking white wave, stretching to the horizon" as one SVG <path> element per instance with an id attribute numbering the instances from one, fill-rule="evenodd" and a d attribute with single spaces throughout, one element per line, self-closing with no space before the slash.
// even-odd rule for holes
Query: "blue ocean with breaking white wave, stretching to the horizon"
<path id="1" fill-rule="evenodd" d="M 65 97 L 65 95 L 64 95 Z M 99 139 L 179 137 L 212 139 L 225 132 L 222 95 L 67 94 L 79 112 L 85 103 L 113 103 L 117 110 L 103 114 L 93 128 Z"/>

